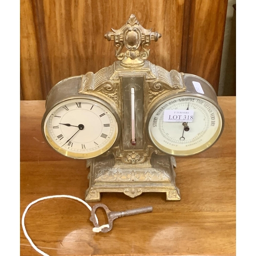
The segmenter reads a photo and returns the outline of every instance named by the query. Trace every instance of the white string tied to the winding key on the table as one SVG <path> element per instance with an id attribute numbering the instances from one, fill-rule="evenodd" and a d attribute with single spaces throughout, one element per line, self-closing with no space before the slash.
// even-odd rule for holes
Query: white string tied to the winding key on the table
<path id="1" fill-rule="evenodd" d="M 23 232 L 25 234 L 25 237 L 28 239 L 29 243 L 31 244 L 31 246 L 37 251 L 39 252 L 41 255 L 44 255 L 44 256 L 50 256 L 49 254 L 45 253 L 44 251 L 41 251 L 39 248 L 37 248 L 35 246 L 35 244 L 33 243 L 32 239 L 29 237 L 28 235 L 28 232 L 26 230 L 26 227 L 25 227 L 25 216 L 27 214 L 27 211 L 28 209 L 35 203 L 39 202 L 39 201 L 42 201 L 42 200 L 46 200 L 46 199 L 52 199 L 52 198 L 71 198 L 71 199 L 74 199 L 74 200 L 77 200 L 79 202 L 81 202 L 82 204 L 86 205 L 87 208 L 92 211 L 92 207 L 85 201 L 83 201 L 82 199 L 78 198 L 78 197 L 73 197 L 73 196 L 68 196 L 68 195 L 56 195 L 56 196 L 49 196 L 49 197 L 42 197 L 42 198 L 39 198 L 33 202 L 31 202 L 25 209 L 24 213 L 23 213 L 23 216 L 22 216 L 22 228 L 23 228 Z M 98 224 L 98 218 L 95 214 L 95 219 L 96 219 L 96 222 Z M 94 227 L 93 228 L 93 232 L 100 232 L 102 228 L 104 227 L 110 227 L 109 224 L 105 224 L 105 225 L 102 225 L 100 227 Z"/>

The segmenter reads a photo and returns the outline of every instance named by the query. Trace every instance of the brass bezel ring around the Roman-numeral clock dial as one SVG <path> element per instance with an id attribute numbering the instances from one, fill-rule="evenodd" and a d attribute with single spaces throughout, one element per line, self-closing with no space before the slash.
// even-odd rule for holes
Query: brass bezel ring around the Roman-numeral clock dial
<path id="1" fill-rule="evenodd" d="M 90 152 L 90 153 L 78 153 L 78 152 L 75 153 L 75 152 L 66 151 L 65 149 L 59 147 L 59 145 L 57 145 L 52 140 L 52 138 L 50 137 L 50 135 L 48 133 L 48 130 L 45 129 L 45 125 L 47 125 L 47 121 L 48 121 L 48 119 L 50 117 L 50 114 L 51 114 L 53 109 L 55 109 L 58 105 L 61 105 L 64 102 L 68 102 L 70 100 L 79 100 L 79 99 L 91 100 L 91 101 L 94 101 L 96 104 L 98 103 L 98 104 L 103 105 L 106 109 L 109 110 L 109 112 L 111 112 L 111 114 L 115 118 L 115 121 L 117 123 L 116 136 L 114 136 L 110 140 L 111 143 L 110 142 L 108 143 L 108 145 L 112 144 L 110 147 L 107 146 L 107 147 L 101 148 L 101 150 L 100 150 L 101 153 L 97 153 L 98 151 Z M 55 102 L 50 108 L 47 108 L 47 111 L 45 112 L 44 116 L 42 117 L 41 132 L 42 132 L 42 135 L 43 135 L 45 141 L 47 142 L 47 144 L 51 148 L 53 148 L 54 151 L 59 153 L 60 155 L 65 156 L 65 157 L 69 157 L 69 158 L 72 158 L 72 159 L 82 159 L 82 160 L 84 160 L 84 159 L 91 159 L 91 158 L 95 158 L 97 156 L 103 155 L 106 152 L 110 151 L 112 147 L 116 146 L 116 144 L 117 144 L 117 142 L 119 141 L 119 138 L 120 138 L 120 130 L 121 130 L 120 125 L 121 125 L 121 122 L 120 122 L 120 118 L 119 118 L 117 112 L 115 111 L 115 109 L 108 102 L 104 101 L 101 98 L 91 96 L 91 95 L 74 95 L 74 96 L 69 96 L 69 97 L 63 98 L 63 99 Z"/>

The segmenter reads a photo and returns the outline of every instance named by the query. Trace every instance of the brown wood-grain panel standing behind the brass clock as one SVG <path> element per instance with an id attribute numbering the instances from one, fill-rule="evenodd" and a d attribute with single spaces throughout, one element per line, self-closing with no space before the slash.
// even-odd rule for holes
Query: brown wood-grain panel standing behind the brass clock
<path id="1" fill-rule="evenodd" d="M 115 60 L 103 35 L 129 16 L 158 31 L 148 58 L 199 75 L 218 92 L 227 0 L 20 0 L 20 99 L 46 99 L 58 81 Z"/>

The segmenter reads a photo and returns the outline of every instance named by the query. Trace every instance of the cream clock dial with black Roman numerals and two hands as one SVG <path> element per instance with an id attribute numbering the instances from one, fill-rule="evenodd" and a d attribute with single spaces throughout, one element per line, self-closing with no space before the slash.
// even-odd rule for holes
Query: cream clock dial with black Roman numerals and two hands
<path id="1" fill-rule="evenodd" d="M 84 98 L 70 99 L 48 113 L 44 135 L 60 154 L 87 159 L 112 147 L 117 139 L 118 124 L 103 104 Z"/>

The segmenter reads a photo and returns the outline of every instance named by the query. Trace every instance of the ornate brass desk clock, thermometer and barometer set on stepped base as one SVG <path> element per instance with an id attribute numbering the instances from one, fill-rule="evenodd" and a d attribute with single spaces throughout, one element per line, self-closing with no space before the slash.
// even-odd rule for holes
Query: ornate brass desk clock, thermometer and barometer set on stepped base
<path id="1" fill-rule="evenodd" d="M 146 60 L 160 37 L 132 14 L 105 35 L 117 47 L 113 65 L 64 79 L 47 96 L 42 134 L 58 153 L 87 159 L 86 201 L 103 192 L 180 200 L 175 157 L 201 153 L 222 134 L 223 113 L 206 80 Z"/>

